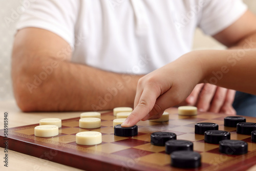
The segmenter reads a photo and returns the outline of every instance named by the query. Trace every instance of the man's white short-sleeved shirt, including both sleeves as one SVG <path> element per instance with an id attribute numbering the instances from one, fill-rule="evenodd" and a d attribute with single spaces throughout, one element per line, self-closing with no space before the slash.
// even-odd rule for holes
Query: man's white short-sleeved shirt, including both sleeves
<path id="1" fill-rule="evenodd" d="M 197 27 L 214 35 L 246 10 L 240 0 L 44 0 L 31 3 L 17 30 L 59 35 L 73 62 L 146 74 L 189 52 Z"/>

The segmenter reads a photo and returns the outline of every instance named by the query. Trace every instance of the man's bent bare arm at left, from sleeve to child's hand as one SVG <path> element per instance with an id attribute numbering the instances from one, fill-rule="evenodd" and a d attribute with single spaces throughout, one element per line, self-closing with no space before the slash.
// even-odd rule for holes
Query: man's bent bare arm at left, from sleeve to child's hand
<path id="1" fill-rule="evenodd" d="M 14 96 L 22 111 L 92 111 L 133 106 L 141 76 L 72 63 L 69 44 L 44 29 L 25 28 L 12 54 Z"/>

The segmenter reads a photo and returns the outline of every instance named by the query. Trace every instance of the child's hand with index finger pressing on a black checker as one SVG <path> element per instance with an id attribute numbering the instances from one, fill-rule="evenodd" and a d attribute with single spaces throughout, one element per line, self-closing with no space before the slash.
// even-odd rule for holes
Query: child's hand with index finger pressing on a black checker
<path id="1" fill-rule="evenodd" d="M 139 80 L 135 109 L 122 126 L 129 127 L 140 120 L 157 119 L 165 109 L 179 104 L 191 93 L 202 78 L 202 66 L 200 60 L 190 56 L 190 53 Z"/>

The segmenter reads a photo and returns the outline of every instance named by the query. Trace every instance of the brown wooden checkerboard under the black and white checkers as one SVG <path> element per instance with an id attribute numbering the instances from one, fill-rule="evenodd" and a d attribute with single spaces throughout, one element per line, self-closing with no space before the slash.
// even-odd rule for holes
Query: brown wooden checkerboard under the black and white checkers
<path id="1" fill-rule="evenodd" d="M 170 156 L 165 147 L 154 146 L 150 136 L 154 132 L 173 132 L 177 139 L 194 143 L 194 151 L 202 156 L 202 166 L 197 170 L 245 170 L 256 164 L 256 143 L 250 135 L 236 133 L 235 127 L 224 126 L 226 115 L 199 113 L 197 116 L 179 116 L 177 109 L 166 110 L 170 113 L 168 122 L 138 122 L 138 135 L 133 137 L 114 136 L 112 112 L 101 115 L 101 127 L 98 129 L 79 128 L 79 118 L 62 120 L 59 135 L 40 138 L 34 136 L 34 127 L 39 124 L 19 126 L 9 129 L 9 149 L 86 170 L 180 170 L 170 166 Z M 256 122 L 256 118 L 246 117 L 247 122 Z M 204 142 L 203 135 L 194 133 L 195 123 L 214 122 L 219 130 L 228 131 L 231 139 L 248 143 L 245 155 L 226 155 L 219 153 L 218 144 Z M 75 135 L 83 131 L 102 133 L 102 143 L 98 145 L 78 145 Z M 3 130 L 0 130 L 1 146 L 4 147 Z M 193 170 L 193 169 L 190 169 Z"/>

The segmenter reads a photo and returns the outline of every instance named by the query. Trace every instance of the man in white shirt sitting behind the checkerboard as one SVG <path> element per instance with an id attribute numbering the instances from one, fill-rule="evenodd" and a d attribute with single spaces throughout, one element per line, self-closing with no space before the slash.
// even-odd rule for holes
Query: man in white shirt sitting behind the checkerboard
<path id="1" fill-rule="evenodd" d="M 139 78 L 189 52 L 196 27 L 243 48 L 253 23 L 241 1 L 36 1 L 17 25 L 14 95 L 23 111 L 133 106 Z M 233 97 L 199 84 L 185 103 L 235 114 Z"/>

